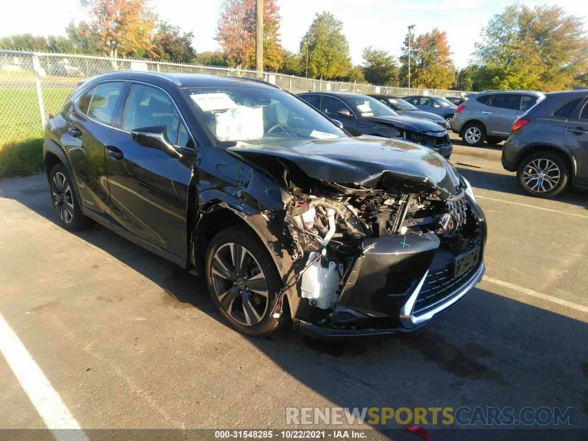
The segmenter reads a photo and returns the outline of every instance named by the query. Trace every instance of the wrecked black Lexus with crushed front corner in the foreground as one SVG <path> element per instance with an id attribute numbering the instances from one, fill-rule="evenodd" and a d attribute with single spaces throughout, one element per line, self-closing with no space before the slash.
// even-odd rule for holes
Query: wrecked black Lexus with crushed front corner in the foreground
<path id="1" fill-rule="evenodd" d="M 269 83 L 96 76 L 49 115 L 44 162 L 65 229 L 93 220 L 202 273 L 249 336 L 414 330 L 484 273 L 485 217 L 449 162 Z"/>

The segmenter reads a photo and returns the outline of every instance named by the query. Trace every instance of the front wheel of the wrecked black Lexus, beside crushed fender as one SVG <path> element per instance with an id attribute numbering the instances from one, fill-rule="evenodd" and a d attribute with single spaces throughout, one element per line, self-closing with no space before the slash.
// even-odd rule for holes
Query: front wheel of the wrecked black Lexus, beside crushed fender
<path id="1" fill-rule="evenodd" d="M 238 332 L 265 336 L 286 322 L 285 315 L 272 316 L 282 287 L 278 270 L 250 229 L 230 227 L 212 238 L 206 252 L 206 282 L 212 302 Z"/>

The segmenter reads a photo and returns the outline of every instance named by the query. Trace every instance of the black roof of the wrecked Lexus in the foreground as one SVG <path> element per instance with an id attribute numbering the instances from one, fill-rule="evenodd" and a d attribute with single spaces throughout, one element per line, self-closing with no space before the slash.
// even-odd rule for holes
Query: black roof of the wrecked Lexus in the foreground
<path id="1" fill-rule="evenodd" d="M 93 78 L 99 79 L 126 79 L 136 81 L 147 81 L 148 79 L 163 79 L 181 88 L 192 87 L 219 87 L 219 86 L 243 86 L 259 87 L 267 89 L 279 89 L 272 83 L 253 78 L 242 78 L 240 76 L 217 76 L 202 74 L 167 74 L 165 72 L 149 71 L 112 71 L 106 72 Z"/>

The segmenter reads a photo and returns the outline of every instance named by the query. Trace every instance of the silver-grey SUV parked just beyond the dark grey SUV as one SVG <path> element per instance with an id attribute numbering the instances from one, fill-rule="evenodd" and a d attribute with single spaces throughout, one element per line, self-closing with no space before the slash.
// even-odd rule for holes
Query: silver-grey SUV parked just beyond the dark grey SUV
<path id="1" fill-rule="evenodd" d="M 542 92 L 484 91 L 471 96 L 453 116 L 451 129 L 469 146 L 507 139 L 513 122 L 545 98 Z"/>

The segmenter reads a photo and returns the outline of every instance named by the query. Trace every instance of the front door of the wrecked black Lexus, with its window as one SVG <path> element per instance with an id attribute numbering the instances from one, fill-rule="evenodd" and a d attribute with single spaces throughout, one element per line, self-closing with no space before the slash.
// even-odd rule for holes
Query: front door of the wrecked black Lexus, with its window
<path id="1" fill-rule="evenodd" d="M 166 126 L 176 152 L 148 148 L 132 139 L 133 129 L 153 125 Z M 171 253 L 165 255 L 171 260 L 188 255 L 188 185 L 196 158 L 192 139 L 168 92 L 133 82 L 121 130 L 113 130 L 106 141 L 113 228 L 126 232 L 131 240 L 139 238 Z"/>

